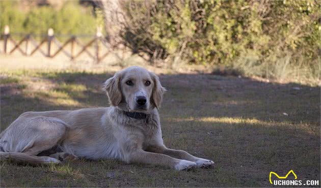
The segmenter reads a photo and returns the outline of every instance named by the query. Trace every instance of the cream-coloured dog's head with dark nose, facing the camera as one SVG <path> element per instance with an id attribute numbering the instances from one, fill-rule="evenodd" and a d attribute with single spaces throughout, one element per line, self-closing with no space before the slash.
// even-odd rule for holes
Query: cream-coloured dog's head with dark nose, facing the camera
<path id="1" fill-rule="evenodd" d="M 166 91 L 159 78 L 141 67 L 129 67 L 103 84 L 112 106 L 131 112 L 147 112 L 159 108 Z"/>

